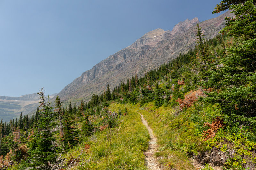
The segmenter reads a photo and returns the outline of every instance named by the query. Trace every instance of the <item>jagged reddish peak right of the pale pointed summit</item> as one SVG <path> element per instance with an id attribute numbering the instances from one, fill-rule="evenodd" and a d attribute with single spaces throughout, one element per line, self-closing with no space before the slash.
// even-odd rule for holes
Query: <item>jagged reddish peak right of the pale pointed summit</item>
<path id="1" fill-rule="evenodd" d="M 197 17 L 195 17 L 191 20 L 186 19 L 185 21 L 181 21 L 174 26 L 174 28 L 171 31 L 171 34 L 174 35 L 176 33 L 180 33 L 182 31 L 188 29 L 189 27 L 196 25 L 197 23 L 199 23 L 199 20 Z"/>

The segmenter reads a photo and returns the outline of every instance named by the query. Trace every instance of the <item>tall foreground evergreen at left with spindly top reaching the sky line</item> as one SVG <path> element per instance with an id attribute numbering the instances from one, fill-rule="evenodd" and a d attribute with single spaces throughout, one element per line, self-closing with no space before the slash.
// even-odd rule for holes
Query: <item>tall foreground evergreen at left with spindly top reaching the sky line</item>
<path id="1" fill-rule="evenodd" d="M 53 120 L 50 117 L 52 111 L 50 96 L 47 97 L 47 102 L 44 98 L 43 88 L 38 93 L 40 96 L 40 121 L 38 122 L 38 128 L 34 129 L 34 134 L 29 139 L 29 150 L 28 150 L 28 167 L 34 169 L 50 169 L 49 163 L 56 162 L 54 154 L 53 142 L 55 139 L 51 133 L 51 124 Z"/>

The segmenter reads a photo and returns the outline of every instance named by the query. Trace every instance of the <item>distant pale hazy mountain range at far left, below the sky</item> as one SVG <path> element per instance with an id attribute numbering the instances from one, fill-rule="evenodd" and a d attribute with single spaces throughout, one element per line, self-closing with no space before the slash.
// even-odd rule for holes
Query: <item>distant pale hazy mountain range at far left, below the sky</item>
<path id="1" fill-rule="evenodd" d="M 57 94 L 57 93 L 56 93 Z M 56 94 L 52 94 L 51 98 Z M 0 96 L 0 118 L 5 122 L 20 116 L 20 113 L 31 113 L 39 106 L 39 95 L 37 93 L 27 94 L 20 97 Z"/>

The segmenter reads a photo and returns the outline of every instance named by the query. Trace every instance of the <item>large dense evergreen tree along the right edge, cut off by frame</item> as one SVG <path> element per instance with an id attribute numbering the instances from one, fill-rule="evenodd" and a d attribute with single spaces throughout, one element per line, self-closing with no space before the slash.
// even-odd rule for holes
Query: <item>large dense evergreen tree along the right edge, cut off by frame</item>
<path id="1" fill-rule="evenodd" d="M 255 126 L 256 122 L 256 2 L 253 0 L 223 0 L 213 13 L 231 9 L 234 18 L 226 18 L 222 32 L 236 39 L 226 48 L 222 63 L 224 67 L 212 71 L 206 87 L 221 91 L 209 93 L 206 101 L 218 103 L 222 111 L 241 123 Z M 228 88 L 225 88 L 228 87 Z M 256 141 L 255 131 L 247 133 L 248 139 Z"/>

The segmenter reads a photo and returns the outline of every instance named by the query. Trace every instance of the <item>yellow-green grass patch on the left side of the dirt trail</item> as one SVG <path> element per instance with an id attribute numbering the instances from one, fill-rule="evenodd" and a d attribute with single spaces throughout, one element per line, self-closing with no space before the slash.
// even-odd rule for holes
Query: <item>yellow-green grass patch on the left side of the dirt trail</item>
<path id="1" fill-rule="evenodd" d="M 108 109 L 118 112 L 124 107 L 114 103 Z M 140 115 L 129 111 L 118 118 L 115 128 L 106 127 L 92 135 L 81 144 L 81 148 L 69 151 L 67 157 L 74 159 L 82 153 L 73 169 L 146 170 L 143 151 L 147 150 L 149 139 Z M 89 149 L 83 149 L 86 144 L 90 145 Z"/>

